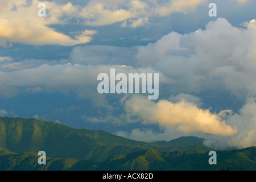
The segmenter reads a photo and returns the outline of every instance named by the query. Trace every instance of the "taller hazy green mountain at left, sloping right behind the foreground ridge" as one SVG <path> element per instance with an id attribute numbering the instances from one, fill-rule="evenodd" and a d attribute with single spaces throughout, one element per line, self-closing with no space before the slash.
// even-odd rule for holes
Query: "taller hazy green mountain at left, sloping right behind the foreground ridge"
<path id="1" fill-rule="evenodd" d="M 183 140 L 185 141 L 185 138 Z M 192 145 L 188 146 L 184 141 L 180 145 L 176 141 L 175 146 L 170 144 L 164 146 L 118 137 L 105 131 L 72 129 L 44 119 L 0 117 L 0 147 L 16 154 L 37 153 L 43 150 L 51 158 L 76 158 L 102 162 L 119 154 L 130 154 L 148 148 L 160 151 L 211 150 L 203 143 L 196 145 L 190 143 Z"/>

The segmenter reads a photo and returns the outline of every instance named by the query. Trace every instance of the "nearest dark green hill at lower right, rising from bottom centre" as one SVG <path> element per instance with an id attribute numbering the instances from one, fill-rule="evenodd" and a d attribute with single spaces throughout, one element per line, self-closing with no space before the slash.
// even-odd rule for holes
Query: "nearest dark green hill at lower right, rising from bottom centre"
<path id="1" fill-rule="evenodd" d="M 98 164 L 97 169 L 122 171 L 256 170 L 256 147 L 216 152 L 217 165 L 208 163 L 209 155 L 204 150 L 161 152 L 149 149 L 109 159 Z"/>

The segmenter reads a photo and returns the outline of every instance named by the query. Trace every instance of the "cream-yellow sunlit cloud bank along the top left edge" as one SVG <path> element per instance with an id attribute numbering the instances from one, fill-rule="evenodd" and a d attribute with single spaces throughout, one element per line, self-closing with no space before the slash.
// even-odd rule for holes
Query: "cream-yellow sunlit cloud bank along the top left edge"
<path id="1" fill-rule="evenodd" d="M 38 16 L 38 0 L 10 0 L 0 3 L 0 46 L 11 43 L 25 43 L 37 46 L 75 46 L 92 41 L 94 30 L 84 30 L 71 36 L 51 28 L 54 24 L 84 24 L 105 26 L 121 23 L 121 27 L 137 28 L 150 24 L 150 19 L 168 16 L 172 13 L 190 13 L 207 2 L 206 0 L 168 1 L 89 1 L 85 6 L 72 2 L 46 4 L 47 16 Z M 238 1 L 245 3 L 247 1 Z"/>

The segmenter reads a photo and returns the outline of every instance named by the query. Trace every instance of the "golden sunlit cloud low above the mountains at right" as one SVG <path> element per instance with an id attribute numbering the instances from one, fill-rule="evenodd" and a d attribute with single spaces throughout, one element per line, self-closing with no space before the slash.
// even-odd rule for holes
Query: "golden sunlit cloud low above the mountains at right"
<path id="1" fill-rule="evenodd" d="M 141 100 L 143 101 L 141 101 Z M 133 102 L 133 103 L 131 103 Z M 159 125 L 160 131 L 154 131 L 151 129 L 133 129 L 131 133 L 126 131 L 117 131 L 115 134 L 130 138 L 130 139 L 137 139 L 144 142 L 154 142 L 156 140 L 171 140 L 181 136 L 188 136 L 193 135 L 200 138 L 205 138 L 204 144 L 208 147 L 216 148 L 216 149 L 224 149 L 229 147 L 236 147 L 236 148 L 245 148 L 256 146 L 256 102 L 255 98 L 249 98 L 247 103 L 238 111 L 238 113 L 233 113 L 231 110 L 221 111 L 218 114 L 211 114 L 208 113 L 207 110 L 201 110 L 199 107 L 195 107 L 195 105 L 188 103 L 188 102 L 177 102 L 176 104 L 170 104 L 170 102 L 159 101 L 158 103 L 149 103 L 147 104 L 147 100 L 144 100 L 143 97 L 135 97 L 132 98 L 130 101 L 127 100 L 126 111 L 127 114 L 133 115 L 133 117 L 137 116 L 140 121 L 146 125 L 150 125 L 151 123 L 157 123 Z M 162 102 L 162 103 L 161 103 Z M 140 103 L 142 103 L 140 105 Z M 143 106 L 142 106 L 143 105 Z M 159 105 L 159 106 L 158 106 Z M 171 105 L 171 106 L 170 106 Z M 161 107 L 160 107 L 161 106 Z M 162 108 L 167 109 L 162 109 Z M 197 115 L 197 111 L 191 112 L 189 109 L 201 110 L 199 114 L 199 118 L 209 117 L 209 119 L 204 119 L 202 122 L 207 122 L 207 125 L 201 125 L 199 122 L 195 122 L 195 117 L 193 115 Z M 183 114 L 180 114 L 177 110 L 184 109 Z M 160 110 L 160 111 L 159 111 Z M 168 111 L 166 111 L 168 110 Z M 188 112 L 186 112 L 188 111 Z M 206 113 L 205 113 L 206 111 Z M 173 114 L 174 113 L 174 114 Z M 186 119 L 188 119 L 188 115 L 192 117 L 189 119 L 187 123 Z M 210 118 L 218 118 L 217 120 Z M 180 122 L 176 122 L 180 119 Z M 225 123 L 223 122 L 225 119 Z M 214 121 L 214 122 L 210 122 Z M 137 122 L 139 122 L 137 120 Z M 215 123 L 216 122 L 216 123 Z M 222 124 L 221 124 L 222 122 Z M 215 123 L 215 124 L 213 124 Z M 194 126 L 198 125 L 198 126 Z M 212 132 L 216 131 L 218 127 L 222 127 L 222 129 L 217 129 L 216 134 L 208 134 L 205 132 L 201 126 L 208 127 L 212 129 Z M 179 126 L 181 125 L 181 130 L 179 130 Z M 183 126 L 185 125 L 185 130 L 183 130 Z M 186 128 L 189 127 L 189 132 Z M 196 129 L 195 129 L 196 127 Z M 229 135 L 224 131 L 225 129 L 231 129 L 232 131 Z M 193 131 L 192 131 L 193 130 Z M 199 131 L 201 130 L 201 131 Z M 204 131 L 204 132 L 202 132 Z M 218 134 L 220 131 L 224 132 L 224 134 Z"/>

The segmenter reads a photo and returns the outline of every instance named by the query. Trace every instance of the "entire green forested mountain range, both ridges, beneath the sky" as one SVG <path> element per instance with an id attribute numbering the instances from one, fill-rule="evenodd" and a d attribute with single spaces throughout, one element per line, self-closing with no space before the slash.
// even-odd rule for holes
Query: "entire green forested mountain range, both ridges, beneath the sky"
<path id="1" fill-rule="evenodd" d="M 105 131 L 72 129 L 44 119 L 0 117 L 0 170 L 255 170 L 256 147 L 217 151 L 204 139 L 138 142 Z M 47 164 L 38 164 L 46 151 Z"/>

